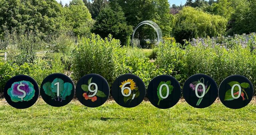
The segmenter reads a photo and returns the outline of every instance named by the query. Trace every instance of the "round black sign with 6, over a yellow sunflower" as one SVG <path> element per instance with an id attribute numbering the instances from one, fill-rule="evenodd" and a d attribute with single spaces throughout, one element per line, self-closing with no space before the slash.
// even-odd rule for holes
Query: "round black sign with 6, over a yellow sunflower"
<path id="1" fill-rule="evenodd" d="M 144 82 L 136 75 L 119 76 L 112 85 L 112 97 L 123 107 L 139 105 L 146 95 Z"/>

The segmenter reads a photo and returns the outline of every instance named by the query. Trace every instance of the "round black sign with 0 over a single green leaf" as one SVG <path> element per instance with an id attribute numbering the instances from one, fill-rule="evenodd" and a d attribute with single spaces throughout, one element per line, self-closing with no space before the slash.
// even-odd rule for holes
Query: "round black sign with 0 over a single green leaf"
<path id="1" fill-rule="evenodd" d="M 170 75 L 160 75 L 150 81 L 147 95 L 157 108 L 167 109 L 174 106 L 181 97 L 179 82 Z"/>

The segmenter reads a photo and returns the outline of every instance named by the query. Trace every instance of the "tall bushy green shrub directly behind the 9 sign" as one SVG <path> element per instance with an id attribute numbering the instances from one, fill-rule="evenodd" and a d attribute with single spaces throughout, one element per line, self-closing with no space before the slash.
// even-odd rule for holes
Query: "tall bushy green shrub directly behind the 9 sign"
<path id="1" fill-rule="evenodd" d="M 73 79 L 78 81 L 86 74 L 99 74 L 111 86 L 113 81 L 124 73 L 126 51 L 120 47 L 120 41 L 108 38 L 102 39 L 92 34 L 91 38 L 78 39 L 78 46 L 74 52 L 72 66 Z"/>

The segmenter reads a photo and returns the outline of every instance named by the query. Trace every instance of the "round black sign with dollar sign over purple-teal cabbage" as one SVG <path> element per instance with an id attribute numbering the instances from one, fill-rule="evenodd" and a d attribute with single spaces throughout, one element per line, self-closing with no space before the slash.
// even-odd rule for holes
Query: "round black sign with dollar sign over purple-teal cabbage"
<path id="1" fill-rule="evenodd" d="M 28 108 L 32 106 L 39 97 L 38 84 L 29 76 L 14 76 L 5 85 L 4 97 L 6 101 L 15 108 Z"/>

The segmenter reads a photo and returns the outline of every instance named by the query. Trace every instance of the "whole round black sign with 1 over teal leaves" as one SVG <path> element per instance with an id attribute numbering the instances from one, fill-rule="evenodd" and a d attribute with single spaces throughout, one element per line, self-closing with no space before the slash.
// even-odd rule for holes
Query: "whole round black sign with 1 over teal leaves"
<path id="1" fill-rule="evenodd" d="M 75 95 L 75 86 L 72 80 L 60 73 L 47 76 L 40 87 L 43 100 L 55 107 L 68 104 Z"/>

